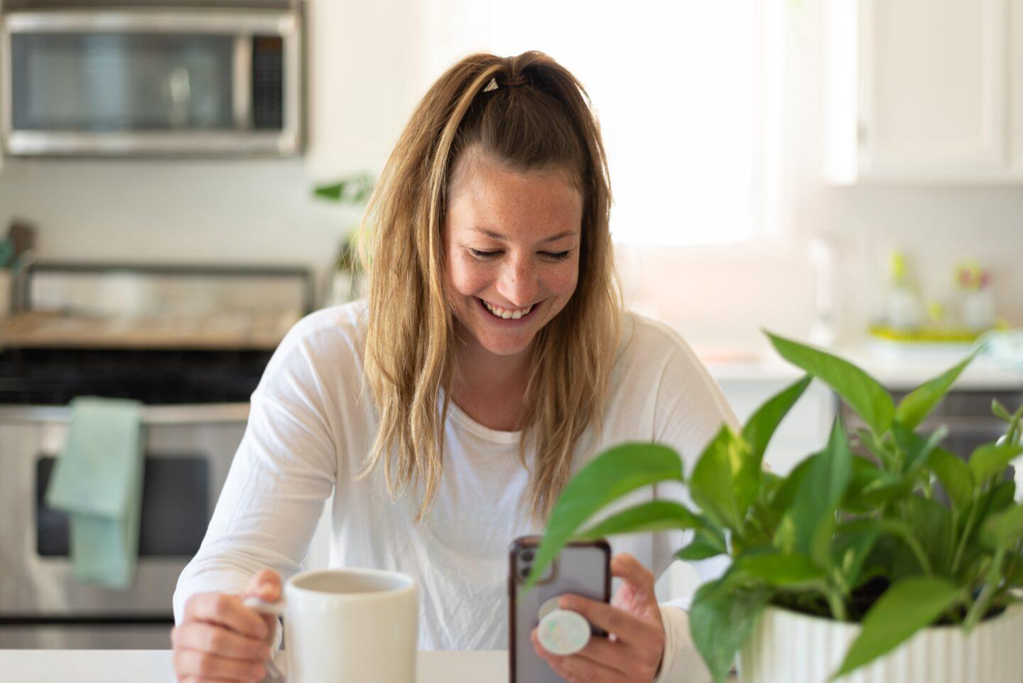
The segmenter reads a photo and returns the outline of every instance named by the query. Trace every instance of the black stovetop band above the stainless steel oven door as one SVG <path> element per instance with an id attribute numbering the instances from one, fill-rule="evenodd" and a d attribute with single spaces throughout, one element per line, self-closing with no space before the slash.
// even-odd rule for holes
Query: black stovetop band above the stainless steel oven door
<path id="1" fill-rule="evenodd" d="M 9 348 L 0 352 L 0 404 L 64 405 L 75 396 L 149 405 L 248 402 L 268 350 Z"/>

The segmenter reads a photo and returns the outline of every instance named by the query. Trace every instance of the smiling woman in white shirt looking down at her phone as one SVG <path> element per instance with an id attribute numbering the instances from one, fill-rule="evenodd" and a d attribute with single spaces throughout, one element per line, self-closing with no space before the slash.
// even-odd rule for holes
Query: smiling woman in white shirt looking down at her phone
<path id="1" fill-rule="evenodd" d="M 261 675 L 275 623 L 240 597 L 276 598 L 331 493 L 331 564 L 411 574 L 421 649 L 504 649 L 508 545 L 572 472 L 625 440 L 692 461 L 735 424 L 676 334 L 623 315 L 610 205 L 585 91 L 548 56 L 475 54 L 430 88 L 367 211 L 368 304 L 299 323 L 253 394 L 175 594 L 181 680 Z M 654 598 L 680 535 L 612 543 L 613 606 L 572 608 L 615 638 L 538 653 L 569 681 L 680 679 L 685 613 Z"/>

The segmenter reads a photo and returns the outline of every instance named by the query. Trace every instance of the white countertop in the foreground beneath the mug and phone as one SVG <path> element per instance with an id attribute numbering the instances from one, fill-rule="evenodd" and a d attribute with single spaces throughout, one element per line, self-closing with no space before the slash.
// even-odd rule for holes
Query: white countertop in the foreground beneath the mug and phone
<path id="1" fill-rule="evenodd" d="M 508 654 L 419 652 L 416 683 L 506 683 Z M 174 683 L 170 650 L 0 650 L 4 683 Z"/>

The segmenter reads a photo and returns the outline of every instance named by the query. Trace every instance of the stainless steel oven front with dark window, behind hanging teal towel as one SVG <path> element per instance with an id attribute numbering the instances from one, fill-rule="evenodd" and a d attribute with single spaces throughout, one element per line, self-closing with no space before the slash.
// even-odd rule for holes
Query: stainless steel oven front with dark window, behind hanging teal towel
<path id="1" fill-rule="evenodd" d="M 72 575 L 66 516 L 43 503 L 66 408 L 0 410 L 0 648 L 166 648 L 178 575 L 198 550 L 249 405 L 144 409 L 145 474 L 134 585 Z"/>

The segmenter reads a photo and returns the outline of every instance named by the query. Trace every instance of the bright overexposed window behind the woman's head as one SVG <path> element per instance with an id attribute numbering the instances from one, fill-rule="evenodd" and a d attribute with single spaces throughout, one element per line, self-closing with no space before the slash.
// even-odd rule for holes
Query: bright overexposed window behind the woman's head
<path id="1" fill-rule="evenodd" d="M 616 242 L 730 245 L 776 232 L 781 0 L 430 0 L 424 88 L 473 51 L 539 49 L 586 87 Z"/>

